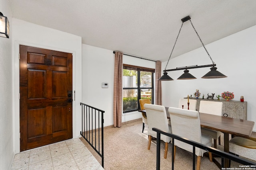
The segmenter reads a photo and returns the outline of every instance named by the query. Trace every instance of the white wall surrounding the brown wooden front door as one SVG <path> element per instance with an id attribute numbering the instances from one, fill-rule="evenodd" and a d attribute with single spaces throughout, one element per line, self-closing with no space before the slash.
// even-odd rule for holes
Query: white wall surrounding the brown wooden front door
<path id="1" fill-rule="evenodd" d="M 73 54 L 73 138 L 80 137 L 80 113 L 82 100 L 82 39 L 76 35 L 42 27 L 33 23 L 13 18 L 13 59 L 14 59 L 14 143 L 15 153 L 20 152 L 20 104 L 19 104 L 19 45 L 28 45 L 44 49 L 62 51 Z M 2 127 L 2 126 L 1 126 Z"/>

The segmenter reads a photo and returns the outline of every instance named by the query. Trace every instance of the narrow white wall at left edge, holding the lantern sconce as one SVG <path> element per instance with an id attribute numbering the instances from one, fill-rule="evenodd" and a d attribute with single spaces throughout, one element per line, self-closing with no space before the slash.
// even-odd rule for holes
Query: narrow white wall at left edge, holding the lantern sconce
<path id="1" fill-rule="evenodd" d="M 10 38 L 0 37 L 0 169 L 11 166 L 13 151 L 12 133 L 12 14 L 6 0 L 0 0 L 0 12 L 10 23 Z"/>

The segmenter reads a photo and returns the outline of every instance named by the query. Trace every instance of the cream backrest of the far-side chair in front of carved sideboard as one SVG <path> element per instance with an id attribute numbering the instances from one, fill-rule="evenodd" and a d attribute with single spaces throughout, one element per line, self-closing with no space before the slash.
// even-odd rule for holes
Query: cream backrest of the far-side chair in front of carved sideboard
<path id="1" fill-rule="evenodd" d="M 200 101 L 199 112 L 222 116 L 222 102 Z"/>

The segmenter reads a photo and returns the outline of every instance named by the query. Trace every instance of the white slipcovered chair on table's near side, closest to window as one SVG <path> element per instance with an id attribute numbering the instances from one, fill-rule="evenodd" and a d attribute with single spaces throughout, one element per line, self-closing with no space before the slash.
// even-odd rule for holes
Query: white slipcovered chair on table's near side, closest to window
<path id="1" fill-rule="evenodd" d="M 156 138 L 156 132 L 152 130 L 153 127 L 172 133 L 172 127 L 168 124 L 166 109 L 164 106 L 154 105 L 154 104 L 144 104 L 146 109 L 147 119 L 148 119 L 148 150 L 150 150 L 151 138 Z M 171 138 L 166 135 L 161 135 L 160 138 L 165 142 L 164 158 L 167 157 L 168 143 Z"/>

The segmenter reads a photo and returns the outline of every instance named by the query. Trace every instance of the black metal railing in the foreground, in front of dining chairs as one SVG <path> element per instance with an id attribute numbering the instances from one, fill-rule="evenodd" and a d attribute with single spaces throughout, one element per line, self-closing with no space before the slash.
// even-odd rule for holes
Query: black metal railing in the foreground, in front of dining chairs
<path id="1" fill-rule="evenodd" d="M 212 154 L 216 154 L 216 155 L 220 156 L 221 157 L 221 165 L 220 165 L 221 167 L 219 167 L 219 168 L 223 169 L 223 170 L 224 169 L 232 169 L 232 168 L 224 168 L 224 158 L 228 158 L 229 160 L 233 160 L 233 161 L 238 162 L 243 165 L 248 165 L 249 167 L 253 167 L 253 168 L 256 167 L 256 163 L 252 162 L 250 160 L 246 160 L 244 158 L 240 158 L 233 154 L 230 154 L 230 153 L 227 153 L 227 152 L 224 152 L 224 151 L 212 148 L 212 147 L 208 147 L 206 145 L 202 145 L 201 143 L 197 143 L 197 142 L 188 140 L 186 138 L 174 135 L 172 133 L 167 133 L 167 132 L 161 131 L 160 129 L 157 129 L 157 128 L 152 128 L 152 130 L 156 131 L 156 133 L 157 133 L 156 134 L 157 135 L 157 138 L 156 138 L 156 170 L 160 170 L 160 137 L 161 137 L 161 134 L 172 138 L 172 170 L 174 170 L 174 139 L 176 139 L 178 141 L 182 141 L 184 143 L 188 143 L 189 145 L 193 146 L 193 170 L 195 169 L 195 166 L 196 166 L 196 164 L 195 164 L 195 157 L 196 157 L 195 156 L 195 147 L 207 150 L 209 152 L 212 152 Z"/>

